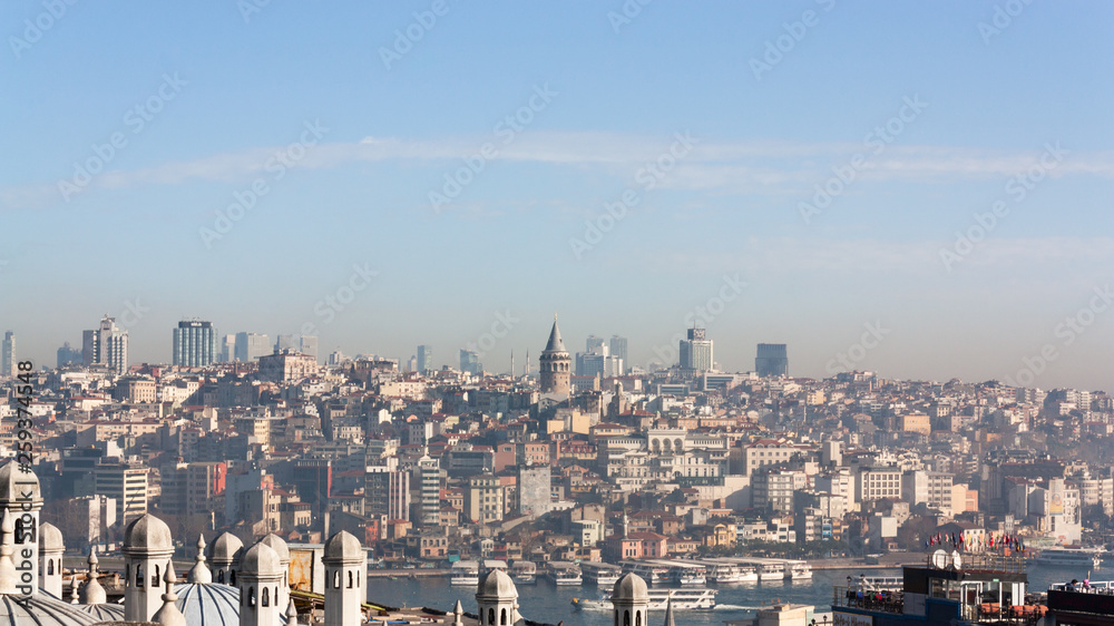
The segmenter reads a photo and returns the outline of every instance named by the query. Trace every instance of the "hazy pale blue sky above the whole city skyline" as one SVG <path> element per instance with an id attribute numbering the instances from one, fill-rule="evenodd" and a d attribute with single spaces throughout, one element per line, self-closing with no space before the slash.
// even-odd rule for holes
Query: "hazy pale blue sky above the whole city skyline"
<path id="1" fill-rule="evenodd" d="M 0 4 L 36 361 L 107 312 L 134 362 L 199 317 L 499 371 L 556 311 L 639 365 L 696 320 L 727 370 L 1114 389 L 1110 3 L 56 3 Z"/>

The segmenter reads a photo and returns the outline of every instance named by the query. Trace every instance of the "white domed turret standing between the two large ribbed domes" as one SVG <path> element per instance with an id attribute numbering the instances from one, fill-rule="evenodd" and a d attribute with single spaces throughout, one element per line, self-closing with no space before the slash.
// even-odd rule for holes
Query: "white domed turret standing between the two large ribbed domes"
<path id="1" fill-rule="evenodd" d="M 162 608 L 163 573 L 174 555 L 170 528 L 146 513 L 124 531 L 124 619 L 150 622 Z"/>

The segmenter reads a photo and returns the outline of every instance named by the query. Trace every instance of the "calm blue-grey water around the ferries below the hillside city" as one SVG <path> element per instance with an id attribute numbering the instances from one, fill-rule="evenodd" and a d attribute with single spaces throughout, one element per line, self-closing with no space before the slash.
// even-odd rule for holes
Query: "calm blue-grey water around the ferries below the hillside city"
<path id="1" fill-rule="evenodd" d="M 1114 569 L 1108 564 L 1110 561 L 1107 561 L 1105 570 L 1095 571 L 1092 579 L 1114 579 Z M 814 605 L 818 612 L 825 612 L 831 605 L 832 587 L 847 585 L 848 576 L 858 578 L 860 573 L 867 576 L 900 576 L 901 569 L 828 569 L 815 570 L 812 580 L 808 581 L 721 585 L 714 587 L 720 590 L 716 595 L 716 608 L 709 612 L 685 612 L 684 622 L 686 624 L 714 624 L 719 626 L 726 619 L 753 617 L 755 609 L 763 605 L 773 604 L 775 600 L 810 604 Z M 1066 583 L 1072 578 L 1083 580 L 1086 575 L 1086 571 L 1076 571 L 1072 568 L 1030 565 L 1029 588 L 1035 591 L 1044 591 L 1049 584 Z M 368 580 L 368 599 L 389 606 L 427 606 L 451 610 L 459 599 L 465 610 L 475 613 L 475 589 L 449 585 L 448 577 L 418 580 L 401 577 L 398 580 L 388 578 Z M 596 587 L 589 584 L 580 587 L 556 587 L 548 580 L 539 578 L 537 585 L 519 586 L 518 596 L 520 612 L 522 617 L 527 619 L 549 624 L 564 622 L 566 626 L 598 625 L 605 620 L 609 624 L 608 613 L 573 610 L 573 598 L 597 598 L 599 596 Z M 664 617 L 664 614 L 661 615 Z"/>

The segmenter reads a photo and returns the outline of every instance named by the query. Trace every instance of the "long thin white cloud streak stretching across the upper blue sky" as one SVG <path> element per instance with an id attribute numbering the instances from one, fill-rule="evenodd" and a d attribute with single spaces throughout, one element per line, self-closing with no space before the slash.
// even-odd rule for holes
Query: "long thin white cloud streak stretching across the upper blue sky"
<path id="1" fill-rule="evenodd" d="M 355 143 L 324 143 L 307 148 L 297 167 L 325 169 L 361 162 L 417 162 L 444 169 L 490 145 L 499 160 L 600 168 L 631 180 L 639 168 L 668 154 L 676 141 L 674 134 L 654 137 L 595 131 L 526 131 L 509 144 L 504 139 L 497 135 L 440 140 L 367 137 Z M 823 184 L 832 176 L 832 167 L 851 163 L 854 155 L 866 157 L 867 166 L 858 174 L 863 180 L 1005 179 L 1039 163 L 1044 150 L 1043 146 L 1014 151 L 890 146 L 874 155 L 861 144 L 713 141 L 700 136 L 695 140 L 695 147 L 677 159 L 675 168 L 661 182 L 662 187 L 727 194 L 800 193 Z M 247 180 L 263 173 L 268 162 L 284 149 L 283 146 L 251 148 L 143 169 L 108 172 L 97 176 L 90 186 L 127 188 Z M 1114 153 L 1071 151 L 1049 175 L 1114 178 Z M 9 208 L 42 206 L 60 199 L 57 183 L 0 188 L 0 202 Z"/>

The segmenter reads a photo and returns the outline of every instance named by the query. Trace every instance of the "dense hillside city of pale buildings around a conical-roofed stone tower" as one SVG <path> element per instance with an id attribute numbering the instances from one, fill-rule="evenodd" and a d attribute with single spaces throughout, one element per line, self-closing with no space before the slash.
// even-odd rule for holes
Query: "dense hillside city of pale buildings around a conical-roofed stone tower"
<path id="1" fill-rule="evenodd" d="M 430 345 L 405 363 L 322 363 L 313 336 L 217 336 L 198 320 L 168 334 L 170 363 L 131 363 L 106 316 L 55 366 L 21 361 L 4 335 L 4 443 L 72 554 L 131 554 L 136 524 L 157 518 L 177 558 L 268 537 L 289 567 L 292 548 L 343 534 L 371 571 L 476 585 L 479 563 L 510 563 L 520 581 L 603 587 L 619 568 L 589 565 L 652 583 L 808 579 L 811 565 L 917 564 L 937 545 L 1083 546 L 1097 565 L 1114 542 L 1104 391 L 794 378 L 784 344 L 729 373 L 697 326 L 654 371 L 628 368 L 618 335 L 570 353 L 556 319 L 537 363 L 502 373 L 467 349 L 458 368 L 437 368 Z M 218 580 L 241 552 L 209 551 Z M 275 615 L 296 613 L 292 589 L 324 590 L 312 569 L 291 570 Z M 55 595 L 76 593 L 77 571 Z M 160 597 L 127 617 L 152 618 Z"/>

